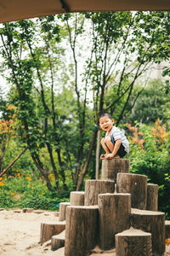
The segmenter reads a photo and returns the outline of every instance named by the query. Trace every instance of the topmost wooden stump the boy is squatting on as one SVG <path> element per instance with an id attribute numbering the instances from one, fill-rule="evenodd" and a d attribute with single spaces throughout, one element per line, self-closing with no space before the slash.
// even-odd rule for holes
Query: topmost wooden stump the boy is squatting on
<path id="1" fill-rule="evenodd" d="M 130 162 L 128 159 L 111 159 L 102 160 L 101 179 L 114 180 L 116 183 L 116 176 L 118 172 L 129 172 Z"/>

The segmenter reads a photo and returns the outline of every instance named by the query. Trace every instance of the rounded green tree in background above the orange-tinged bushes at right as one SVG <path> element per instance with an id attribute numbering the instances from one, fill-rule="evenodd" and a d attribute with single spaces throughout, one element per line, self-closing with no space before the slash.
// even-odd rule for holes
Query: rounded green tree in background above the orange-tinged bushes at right
<path id="1" fill-rule="evenodd" d="M 134 124 L 137 121 L 140 124 L 153 125 L 156 119 L 162 119 L 164 123 L 168 123 L 170 94 L 166 93 L 165 82 L 161 79 L 150 80 L 133 106 L 139 90 L 141 86 L 135 86 L 131 101 L 128 103 L 127 114 L 122 122 Z"/>

